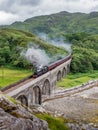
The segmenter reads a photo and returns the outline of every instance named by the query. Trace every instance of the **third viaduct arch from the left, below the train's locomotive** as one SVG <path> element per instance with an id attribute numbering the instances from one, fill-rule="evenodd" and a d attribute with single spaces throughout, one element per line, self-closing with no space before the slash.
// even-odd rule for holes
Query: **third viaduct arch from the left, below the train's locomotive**
<path id="1" fill-rule="evenodd" d="M 42 88 L 42 94 L 43 95 L 50 95 L 50 82 L 48 79 L 44 81 L 44 85 Z"/>

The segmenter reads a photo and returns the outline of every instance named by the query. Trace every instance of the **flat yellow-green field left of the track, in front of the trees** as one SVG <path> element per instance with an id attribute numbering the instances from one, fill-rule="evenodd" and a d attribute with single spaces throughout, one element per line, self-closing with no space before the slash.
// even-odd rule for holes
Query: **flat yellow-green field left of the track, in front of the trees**
<path id="1" fill-rule="evenodd" d="M 0 68 L 0 88 L 10 85 L 32 74 L 30 70 L 16 68 Z"/>

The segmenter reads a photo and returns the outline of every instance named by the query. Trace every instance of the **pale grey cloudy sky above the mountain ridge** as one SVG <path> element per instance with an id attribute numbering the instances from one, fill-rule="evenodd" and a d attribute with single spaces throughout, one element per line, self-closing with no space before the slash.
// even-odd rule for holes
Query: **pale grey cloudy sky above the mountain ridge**
<path id="1" fill-rule="evenodd" d="M 0 0 L 0 25 L 60 11 L 98 11 L 98 0 Z"/>

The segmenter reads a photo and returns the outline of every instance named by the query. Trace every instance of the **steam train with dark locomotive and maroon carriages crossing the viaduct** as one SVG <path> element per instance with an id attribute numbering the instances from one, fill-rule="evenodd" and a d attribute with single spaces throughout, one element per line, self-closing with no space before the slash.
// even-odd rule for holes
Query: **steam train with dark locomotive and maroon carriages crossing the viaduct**
<path id="1" fill-rule="evenodd" d="M 67 57 L 57 60 L 55 63 L 49 64 L 48 66 L 39 66 L 34 69 L 33 78 L 37 78 L 48 71 L 51 71 L 52 69 L 56 68 L 57 66 L 63 64 L 64 62 L 68 61 L 71 58 L 71 54 L 69 54 Z"/>

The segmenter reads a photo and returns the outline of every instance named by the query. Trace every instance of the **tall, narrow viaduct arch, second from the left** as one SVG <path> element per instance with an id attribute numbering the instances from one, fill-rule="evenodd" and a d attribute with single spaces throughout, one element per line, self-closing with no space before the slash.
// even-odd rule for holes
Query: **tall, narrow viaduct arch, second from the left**
<path id="1" fill-rule="evenodd" d="M 33 88 L 33 104 L 41 104 L 41 90 L 39 86 Z"/>

